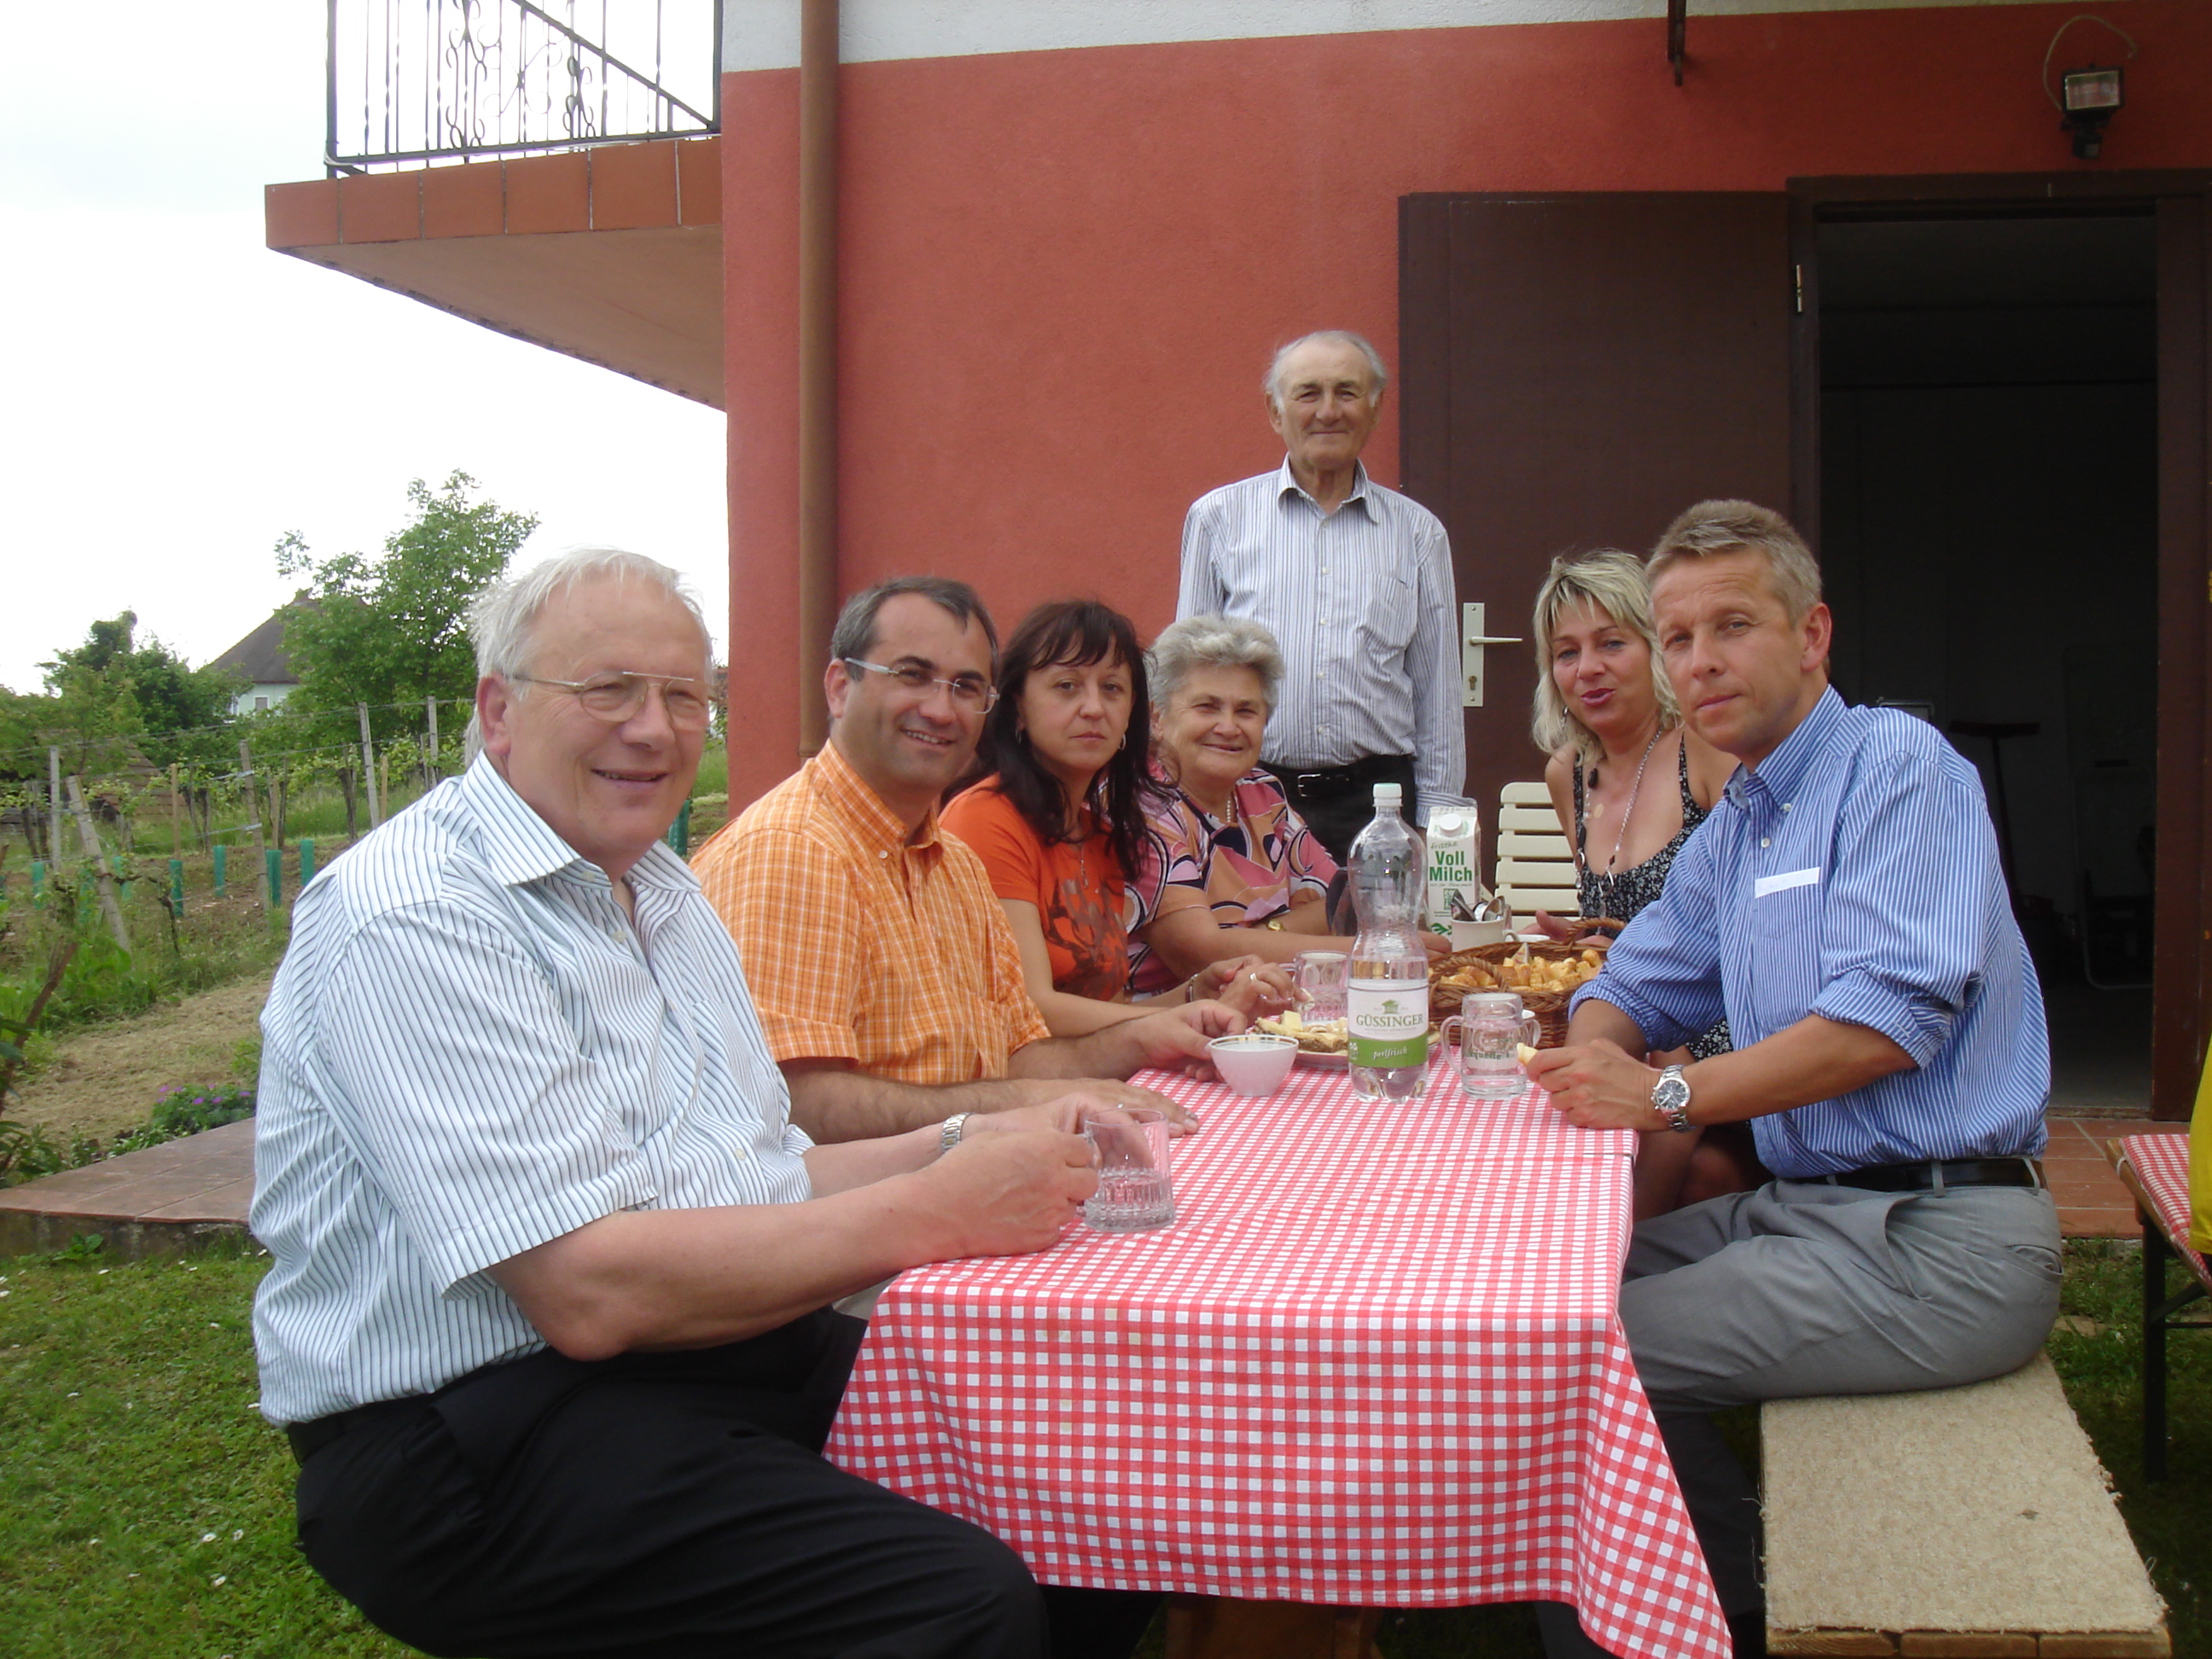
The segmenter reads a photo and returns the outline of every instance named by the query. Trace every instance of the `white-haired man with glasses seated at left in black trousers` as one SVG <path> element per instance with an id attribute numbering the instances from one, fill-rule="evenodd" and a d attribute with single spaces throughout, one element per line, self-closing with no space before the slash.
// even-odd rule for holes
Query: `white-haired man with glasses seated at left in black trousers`
<path id="1" fill-rule="evenodd" d="M 580 551 L 473 630 L 482 754 L 301 896 L 263 1013 L 254 1345 L 307 1559 L 431 1652 L 1042 1659 L 1004 1546 L 821 1460 L 860 1332 L 825 1305 L 1053 1243 L 1084 1144 L 810 1146 L 659 843 L 697 604 Z"/>

